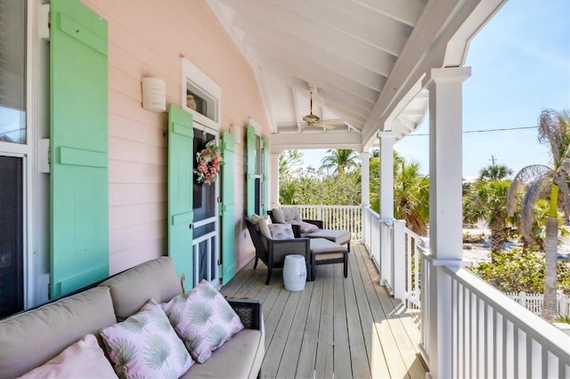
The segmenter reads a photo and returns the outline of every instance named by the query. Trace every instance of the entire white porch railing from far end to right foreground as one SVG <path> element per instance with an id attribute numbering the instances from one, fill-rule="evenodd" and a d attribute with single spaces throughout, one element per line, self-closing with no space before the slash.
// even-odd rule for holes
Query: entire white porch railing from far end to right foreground
<path id="1" fill-rule="evenodd" d="M 470 271 L 434 260 L 404 222 L 383 220 L 370 207 L 298 207 L 303 218 L 362 238 L 380 283 L 409 307 L 421 305 L 421 345 L 432 375 L 570 377 L 568 336 Z"/>

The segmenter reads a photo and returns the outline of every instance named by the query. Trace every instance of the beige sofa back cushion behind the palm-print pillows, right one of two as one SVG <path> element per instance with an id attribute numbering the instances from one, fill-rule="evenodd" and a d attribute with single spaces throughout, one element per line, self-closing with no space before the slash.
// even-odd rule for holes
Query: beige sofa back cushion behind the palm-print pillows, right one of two
<path id="1" fill-rule="evenodd" d="M 151 299 L 167 302 L 182 294 L 174 262 L 167 256 L 134 266 L 99 286 L 110 288 L 118 321 L 133 316 Z"/>

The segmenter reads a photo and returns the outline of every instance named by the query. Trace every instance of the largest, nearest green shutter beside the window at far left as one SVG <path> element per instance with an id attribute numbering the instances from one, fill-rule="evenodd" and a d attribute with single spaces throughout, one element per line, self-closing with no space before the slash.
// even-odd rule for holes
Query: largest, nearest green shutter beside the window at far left
<path id="1" fill-rule="evenodd" d="M 107 21 L 52 0 L 51 295 L 109 276 Z"/>

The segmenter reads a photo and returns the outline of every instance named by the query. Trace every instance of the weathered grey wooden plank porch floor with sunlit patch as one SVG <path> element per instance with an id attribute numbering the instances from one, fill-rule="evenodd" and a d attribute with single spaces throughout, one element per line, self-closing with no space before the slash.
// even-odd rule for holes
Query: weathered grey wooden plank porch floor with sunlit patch
<path id="1" fill-rule="evenodd" d="M 318 266 L 314 282 L 289 292 L 281 270 L 265 286 L 253 261 L 221 290 L 259 299 L 265 317 L 265 378 L 425 378 L 419 321 L 379 286 L 366 247 L 351 246 L 348 278 L 341 264 Z"/>

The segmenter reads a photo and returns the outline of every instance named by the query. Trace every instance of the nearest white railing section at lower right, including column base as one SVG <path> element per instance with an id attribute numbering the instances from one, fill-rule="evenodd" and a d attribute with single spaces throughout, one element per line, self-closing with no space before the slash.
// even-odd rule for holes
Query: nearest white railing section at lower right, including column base
<path id="1" fill-rule="evenodd" d="M 427 252 L 421 271 L 422 346 L 437 376 L 570 376 L 570 338 L 556 327 Z"/>

